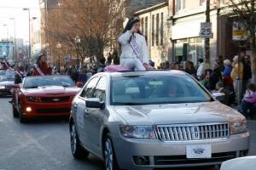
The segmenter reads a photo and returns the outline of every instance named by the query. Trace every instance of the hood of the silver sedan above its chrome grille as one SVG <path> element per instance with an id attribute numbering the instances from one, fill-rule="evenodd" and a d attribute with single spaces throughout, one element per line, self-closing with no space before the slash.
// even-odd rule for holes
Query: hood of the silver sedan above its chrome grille
<path id="1" fill-rule="evenodd" d="M 196 104 L 114 106 L 113 111 L 125 124 L 130 125 L 227 122 L 244 118 L 238 111 L 218 101 Z"/>

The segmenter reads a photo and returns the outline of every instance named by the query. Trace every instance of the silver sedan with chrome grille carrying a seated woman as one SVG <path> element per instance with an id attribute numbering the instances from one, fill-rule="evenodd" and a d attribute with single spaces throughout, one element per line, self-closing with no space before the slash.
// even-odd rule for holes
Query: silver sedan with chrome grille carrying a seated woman
<path id="1" fill-rule="evenodd" d="M 244 116 L 183 71 L 96 74 L 73 99 L 70 144 L 106 169 L 220 165 L 246 156 Z"/>

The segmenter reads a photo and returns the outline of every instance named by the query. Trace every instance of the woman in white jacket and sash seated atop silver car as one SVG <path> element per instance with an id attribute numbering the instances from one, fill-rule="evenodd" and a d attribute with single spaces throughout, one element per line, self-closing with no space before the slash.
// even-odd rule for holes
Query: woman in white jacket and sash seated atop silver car
<path id="1" fill-rule="evenodd" d="M 119 44 L 122 48 L 120 64 L 123 67 L 134 71 L 149 69 L 147 42 L 140 31 L 140 20 L 137 17 L 128 21 L 119 37 Z"/>

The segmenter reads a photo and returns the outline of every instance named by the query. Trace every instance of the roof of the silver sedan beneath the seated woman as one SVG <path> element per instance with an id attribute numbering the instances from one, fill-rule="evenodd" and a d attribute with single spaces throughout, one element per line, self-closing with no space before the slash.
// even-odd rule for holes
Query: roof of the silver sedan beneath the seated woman
<path id="1" fill-rule="evenodd" d="M 109 77 L 136 77 L 136 76 L 156 76 L 156 75 L 166 75 L 166 76 L 177 76 L 177 75 L 188 75 L 183 71 L 167 71 L 167 70 L 154 70 L 154 71 L 117 71 L 117 72 L 102 72 L 97 74 L 98 76 L 109 76 Z"/>

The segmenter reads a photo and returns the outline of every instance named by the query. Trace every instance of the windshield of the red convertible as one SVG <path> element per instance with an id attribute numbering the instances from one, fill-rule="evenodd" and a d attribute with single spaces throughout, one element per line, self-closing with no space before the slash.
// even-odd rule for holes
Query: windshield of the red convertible
<path id="1" fill-rule="evenodd" d="M 38 88 L 44 86 L 74 87 L 70 77 L 26 77 L 23 88 Z"/>

